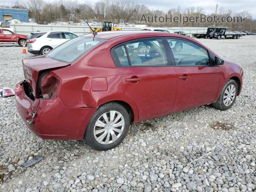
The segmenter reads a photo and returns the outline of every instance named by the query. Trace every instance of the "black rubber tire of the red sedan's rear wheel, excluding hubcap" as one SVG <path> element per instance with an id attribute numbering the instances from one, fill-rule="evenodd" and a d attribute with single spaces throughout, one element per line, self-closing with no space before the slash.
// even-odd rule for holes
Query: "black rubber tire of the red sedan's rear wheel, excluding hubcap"
<path id="1" fill-rule="evenodd" d="M 110 112 L 111 110 L 115 110 L 119 112 L 124 117 L 124 130 L 120 135 L 120 137 L 113 143 L 101 144 L 98 141 L 96 141 L 96 138 L 94 137 L 94 125 L 98 120 L 98 118 L 102 116 L 102 114 L 106 112 Z M 116 102 L 109 102 L 109 103 L 103 104 L 98 108 L 98 110 L 96 110 L 95 114 L 92 116 L 90 122 L 87 125 L 86 131 L 84 133 L 84 138 L 85 138 L 85 141 L 96 150 L 109 150 L 118 146 L 122 142 L 122 140 L 124 139 L 124 137 L 128 132 L 129 127 L 130 127 L 130 118 L 127 110 L 122 105 Z"/>

